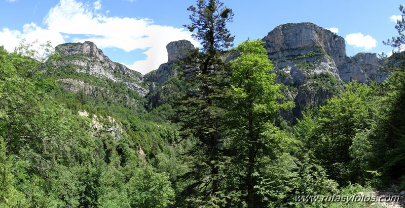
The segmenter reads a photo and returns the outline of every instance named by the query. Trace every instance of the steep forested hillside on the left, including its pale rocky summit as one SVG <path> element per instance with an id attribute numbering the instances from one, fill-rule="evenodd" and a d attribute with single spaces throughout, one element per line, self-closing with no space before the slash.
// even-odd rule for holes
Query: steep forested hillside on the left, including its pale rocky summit
<path id="1" fill-rule="evenodd" d="M 141 207 L 136 192 L 163 207 L 192 142 L 144 110 L 139 73 L 91 42 L 57 50 L 41 63 L 0 46 L 0 207 Z"/>

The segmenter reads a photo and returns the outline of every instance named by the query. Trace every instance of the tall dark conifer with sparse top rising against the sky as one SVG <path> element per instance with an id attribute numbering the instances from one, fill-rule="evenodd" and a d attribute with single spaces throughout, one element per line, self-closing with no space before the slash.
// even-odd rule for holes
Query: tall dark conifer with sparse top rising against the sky
<path id="1" fill-rule="evenodd" d="M 199 0 L 197 8 L 190 6 L 191 24 L 185 25 L 194 38 L 202 44 L 201 49 L 191 50 L 182 65 L 182 74 L 193 86 L 178 106 L 178 122 L 183 137 L 192 136 L 197 144 L 188 153 L 192 170 L 187 174 L 189 185 L 185 195 L 195 206 L 197 203 L 212 206 L 222 204 L 220 196 L 222 167 L 222 125 L 224 89 L 227 86 L 229 64 L 223 61 L 225 49 L 234 39 L 226 28 L 232 22 L 233 12 L 217 0 Z"/>

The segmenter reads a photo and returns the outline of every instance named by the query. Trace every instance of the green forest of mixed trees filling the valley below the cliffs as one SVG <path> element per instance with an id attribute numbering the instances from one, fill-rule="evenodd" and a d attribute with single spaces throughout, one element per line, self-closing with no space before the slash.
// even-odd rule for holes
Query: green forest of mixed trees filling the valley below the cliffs
<path id="1" fill-rule="evenodd" d="M 234 13 L 218 0 L 188 11 L 201 48 L 175 63 L 158 105 L 154 94 L 57 67 L 72 57 L 49 45 L 45 57 L 26 42 L 0 47 L 0 207 L 384 207 L 296 196 L 405 190 L 404 19 L 384 42 L 396 51 L 382 57 L 386 81 L 340 86 L 316 75 L 334 95 L 287 121 L 291 86 L 269 73 L 265 42 L 234 46 Z M 63 78 L 103 91 L 69 91 Z"/>

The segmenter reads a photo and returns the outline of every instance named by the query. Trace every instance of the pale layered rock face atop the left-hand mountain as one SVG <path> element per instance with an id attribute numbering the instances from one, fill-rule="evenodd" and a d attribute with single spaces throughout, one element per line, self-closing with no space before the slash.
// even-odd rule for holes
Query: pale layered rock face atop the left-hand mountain
<path id="1" fill-rule="evenodd" d="M 64 61 L 56 64 L 57 67 L 76 65 L 77 72 L 122 82 L 141 96 L 149 92 L 148 89 L 141 86 L 143 77 L 140 73 L 130 70 L 120 63 L 112 62 L 93 42 L 65 43 L 56 46 L 56 51 L 65 56 Z"/>

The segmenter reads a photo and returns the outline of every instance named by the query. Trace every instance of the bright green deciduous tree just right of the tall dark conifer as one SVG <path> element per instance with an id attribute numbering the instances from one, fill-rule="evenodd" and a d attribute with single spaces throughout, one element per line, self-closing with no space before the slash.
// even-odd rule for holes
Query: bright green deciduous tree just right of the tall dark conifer
<path id="1" fill-rule="evenodd" d="M 261 40 L 246 40 L 238 45 L 240 57 L 232 61 L 230 107 L 232 151 L 246 167 L 245 185 L 248 207 L 257 207 L 257 159 L 271 155 L 277 148 L 277 130 L 272 127 L 280 109 L 291 102 L 279 103 L 281 97 L 274 67 Z M 272 129 L 271 131 L 269 129 Z M 271 133 L 265 133 L 271 132 Z"/>

